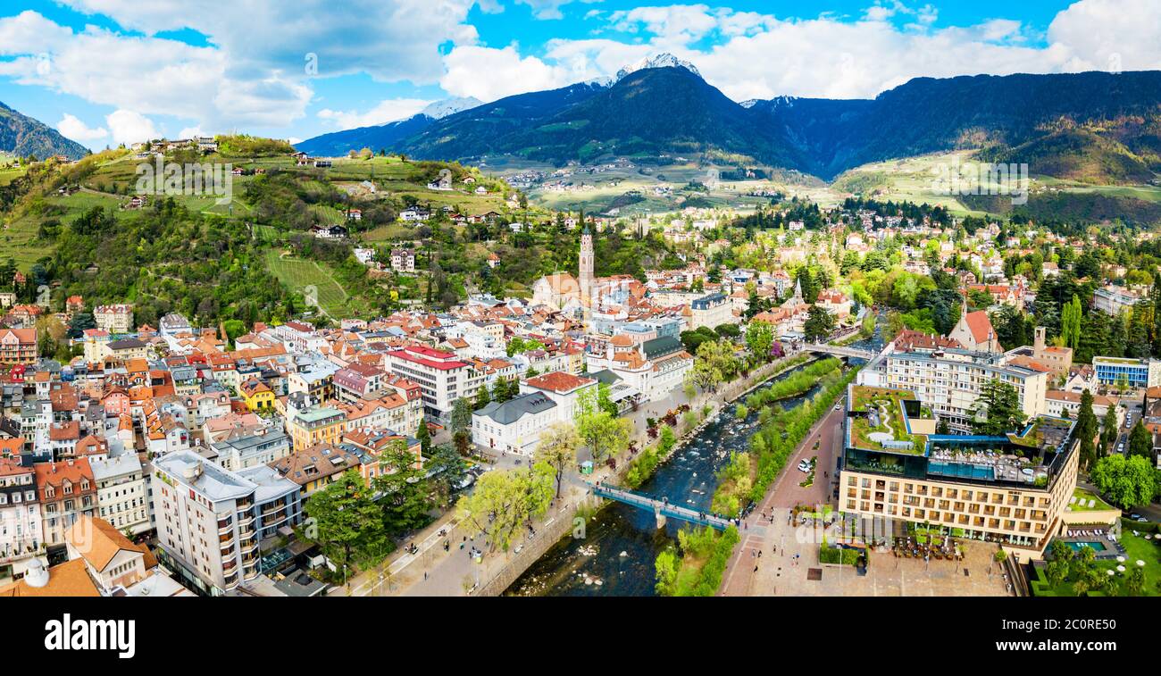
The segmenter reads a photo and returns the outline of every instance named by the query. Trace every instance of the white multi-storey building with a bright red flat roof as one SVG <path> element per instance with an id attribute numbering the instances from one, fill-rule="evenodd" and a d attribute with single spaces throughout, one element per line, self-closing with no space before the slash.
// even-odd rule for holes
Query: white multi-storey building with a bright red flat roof
<path id="1" fill-rule="evenodd" d="M 387 353 L 387 368 L 420 388 L 424 410 L 446 422 L 460 397 L 471 398 L 486 382 L 488 374 L 471 362 L 461 361 L 452 352 L 421 345 L 408 345 Z"/>

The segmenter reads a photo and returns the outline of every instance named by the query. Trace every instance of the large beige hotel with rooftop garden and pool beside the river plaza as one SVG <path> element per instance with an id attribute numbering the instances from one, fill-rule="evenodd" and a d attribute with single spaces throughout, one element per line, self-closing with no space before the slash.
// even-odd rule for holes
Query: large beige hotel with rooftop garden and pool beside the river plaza
<path id="1" fill-rule="evenodd" d="M 936 434 L 933 408 L 909 389 L 850 386 L 838 508 L 1039 559 L 1076 487 L 1075 423 L 1040 415 L 1003 436 Z"/>

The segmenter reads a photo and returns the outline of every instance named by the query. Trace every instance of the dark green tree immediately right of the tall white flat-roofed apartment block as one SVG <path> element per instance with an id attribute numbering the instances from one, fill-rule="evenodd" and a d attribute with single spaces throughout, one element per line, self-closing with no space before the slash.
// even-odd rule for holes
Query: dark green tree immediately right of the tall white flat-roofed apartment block
<path id="1" fill-rule="evenodd" d="M 388 551 L 383 511 L 355 469 L 311 495 L 305 511 L 315 522 L 315 541 L 344 569 Z"/>

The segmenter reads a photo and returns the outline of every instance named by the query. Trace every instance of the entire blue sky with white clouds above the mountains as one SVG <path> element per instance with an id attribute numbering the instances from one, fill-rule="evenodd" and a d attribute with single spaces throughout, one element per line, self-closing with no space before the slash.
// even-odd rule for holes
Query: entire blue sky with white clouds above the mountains
<path id="1" fill-rule="evenodd" d="M 658 52 L 737 101 L 1161 69 L 1159 27 L 1156 0 L 16 0 L 0 8 L 0 101 L 94 149 L 235 130 L 301 139 Z"/>

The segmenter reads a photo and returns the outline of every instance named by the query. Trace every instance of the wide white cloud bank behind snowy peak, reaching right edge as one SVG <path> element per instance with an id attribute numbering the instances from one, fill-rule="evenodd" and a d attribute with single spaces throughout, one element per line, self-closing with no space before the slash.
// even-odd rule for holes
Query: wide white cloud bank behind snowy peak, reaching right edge
<path id="1" fill-rule="evenodd" d="M 1030 29 L 1018 21 L 938 28 L 933 6 L 897 0 L 882 0 L 856 20 L 779 20 L 706 5 L 601 16 L 608 29 L 634 42 L 550 41 L 542 65 L 585 79 L 669 51 L 737 101 L 781 94 L 871 98 L 916 77 L 1115 70 L 1117 63 L 1125 70 L 1161 69 L 1161 2 L 1153 0 L 1080 0 L 1057 15 L 1047 46 L 1030 46 Z M 701 46 L 707 42 L 714 46 Z"/>

